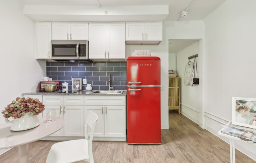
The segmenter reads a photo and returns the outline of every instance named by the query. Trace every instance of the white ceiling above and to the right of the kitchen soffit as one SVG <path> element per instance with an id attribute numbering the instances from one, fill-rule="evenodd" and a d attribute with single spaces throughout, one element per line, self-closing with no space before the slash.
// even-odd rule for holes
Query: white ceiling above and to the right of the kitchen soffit
<path id="1" fill-rule="evenodd" d="M 24 5 L 55 5 L 55 6 L 86 6 L 86 7 L 117 7 L 117 6 L 152 6 L 152 5 L 166 5 L 168 6 L 168 14 L 164 15 L 161 20 L 176 21 L 179 18 L 181 12 L 185 10 L 193 0 L 23 0 Z M 99 2 L 99 3 L 98 3 Z M 182 17 L 182 20 L 203 20 L 209 13 L 214 11 L 225 0 L 194 0 L 194 2 L 188 8 L 188 16 Z M 154 13 L 154 9 L 151 9 Z M 48 9 L 49 11 L 49 9 Z M 39 16 L 39 15 L 38 15 Z M 104 16 L 104 15 L 103 15 Z M 122 15 L 119 15 L 122 16 Z M 144 15 L 146 18 L 150 17 Z M 127 15 L 123 15 L 125 20 Z M 35 18 L 33 18 L 35 19 Z M 147 20 L 147 19 L 145 19 Z M 111 21 L 111 20 L 110 20 Z M 131 20 L 132 21 L 132 20 Z"/>

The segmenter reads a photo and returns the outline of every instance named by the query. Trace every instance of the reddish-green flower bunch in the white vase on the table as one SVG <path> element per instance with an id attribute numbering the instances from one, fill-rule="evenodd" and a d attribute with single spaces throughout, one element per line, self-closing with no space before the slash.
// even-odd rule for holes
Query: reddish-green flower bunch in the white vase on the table
<path id="1" fill-rule="evenodd" d="M 2 114 L 5 118 L 13 117 L 13 119 L 16 119 L 24 116 L 27 112 L 30 112 L 30 115 L 38 115 L 43 111 L 44 105 L 38 99 L 17 97 L 16 100 L 5 107 Z"/>

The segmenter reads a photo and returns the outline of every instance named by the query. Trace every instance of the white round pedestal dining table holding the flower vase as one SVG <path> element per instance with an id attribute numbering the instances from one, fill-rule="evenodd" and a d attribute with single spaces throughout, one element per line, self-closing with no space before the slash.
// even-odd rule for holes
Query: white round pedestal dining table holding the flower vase
<path id="1" fill-rule="evenodd" d="M 53 134 L 65 124 L 65 121 L 58 117 L 54 121 L 46 121 L 45 117 L 38 119 L 39 126 L 23 131 L 11 131 L 12 123 L 0 123 L 0 149 L 19 146 L 19 163 L 28 163 L 29 143 Z"/>

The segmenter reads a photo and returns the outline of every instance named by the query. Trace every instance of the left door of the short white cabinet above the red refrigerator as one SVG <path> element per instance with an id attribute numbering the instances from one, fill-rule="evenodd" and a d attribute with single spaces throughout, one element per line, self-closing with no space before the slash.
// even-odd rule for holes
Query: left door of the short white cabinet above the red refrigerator
<path id="1" fill-rule="evenodd" d="M 126 23 L 126 40 L 143 40 L 144 23 Z"/>

